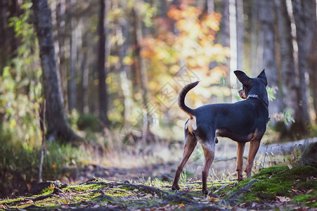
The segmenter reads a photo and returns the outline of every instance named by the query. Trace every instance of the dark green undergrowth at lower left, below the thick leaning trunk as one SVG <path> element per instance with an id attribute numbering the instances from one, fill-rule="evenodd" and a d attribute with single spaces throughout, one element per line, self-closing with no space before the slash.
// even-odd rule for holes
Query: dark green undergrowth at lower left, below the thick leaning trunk
<path id="1" fill-rule="evenodd" d="M 0 198 L 25 193 L 37 184 L 40 146 L 25 143 L 3 143 L 0 139 Z M 70 144 L 47 143 L 44 155 L 42 180 L 56 180 L 75 167 L 89 162 L 84 148 Z M 6 182 L 3 182 L 6 181 Z"/>

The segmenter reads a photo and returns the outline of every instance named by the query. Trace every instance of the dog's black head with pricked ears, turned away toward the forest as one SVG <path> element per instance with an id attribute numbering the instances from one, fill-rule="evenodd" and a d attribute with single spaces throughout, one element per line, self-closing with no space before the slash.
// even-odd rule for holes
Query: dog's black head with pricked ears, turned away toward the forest
<path id="1" fill-rule="evenodd" d="M 241 98 L 246 99 L 249 94 L 264 95 L 267 98 L 266 86 L 268 84 L 264 70 L 258 77 L 250 78 L 245 72 L 234 71 L 238 80 L 242 83 L 242 89 L 239 91 Z"/>

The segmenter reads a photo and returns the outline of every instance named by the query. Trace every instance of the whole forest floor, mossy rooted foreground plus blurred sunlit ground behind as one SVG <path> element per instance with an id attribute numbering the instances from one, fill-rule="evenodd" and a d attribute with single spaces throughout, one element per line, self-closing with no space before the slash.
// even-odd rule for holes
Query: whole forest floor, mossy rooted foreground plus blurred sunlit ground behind
<path id="1" fill-rule="evenodd" d="M 222 141 L 216 147 L 219 153 L 209 171 L 208 196 L 201 191 L 200 148 L 181 174 L 181 190 L 172 191 L 182 151 L 156 146 L 134 148 L 129 155 L 109 153 L 109 163 L 75 168 L 62 182 L 44 181 L 24 196 L 0 200 L 0 209 L 317 210 L 317 165 L 296 164 L 296 149 L 285 156 L 270 151 L 272 146 L 261 146 L 252 179 L 237 182 L 235 143 Z"/>

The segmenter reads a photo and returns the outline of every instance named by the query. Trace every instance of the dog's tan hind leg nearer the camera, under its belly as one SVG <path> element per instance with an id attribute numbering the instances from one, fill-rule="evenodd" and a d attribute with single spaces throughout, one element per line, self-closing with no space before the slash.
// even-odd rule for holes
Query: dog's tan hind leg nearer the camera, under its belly
<path id="1" fill-rule="evenodd" d="M 207 177 L 210 166 L 214 161 L 214 142 L 208 143 L 207 145 L 202 145 L 202 149 L 205 155 L 205 166 L 202 170 L 202 193 L 208 194 Z"/>

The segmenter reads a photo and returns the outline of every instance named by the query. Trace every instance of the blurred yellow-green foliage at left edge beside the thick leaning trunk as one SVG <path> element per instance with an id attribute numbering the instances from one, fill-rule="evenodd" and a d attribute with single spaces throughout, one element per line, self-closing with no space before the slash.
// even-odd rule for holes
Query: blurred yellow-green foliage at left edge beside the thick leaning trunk
<path id="1" fill-rule="evenodd" d="M 29 9 L 10 19 L 9 25 L 14 27 L 15 37 L 21 43 L 15 52 L 17 56 L 0 76 L 0 143 L 26 141 L 32 147 L 41 140 L 38 111 L 42 87 L 30 6 L 26 1 L 22 8 Z"/>

